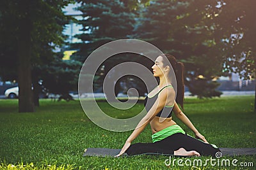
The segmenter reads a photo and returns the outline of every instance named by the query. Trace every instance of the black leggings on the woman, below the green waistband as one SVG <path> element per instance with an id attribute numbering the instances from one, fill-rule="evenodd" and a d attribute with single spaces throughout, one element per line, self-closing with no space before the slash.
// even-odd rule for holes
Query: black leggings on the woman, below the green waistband
<path id="1" fill-rule="evenodd" d="M 126 153 L 127 155 L 139 155 L 142 153 L 163 153 L 173 155 L 175 150 L 184 148 L 187 151 L 195 150 L 202 156 L 211 155 L 215 157 L 216 152 L 220 152 L 218 148 L 214 148 L 208 143 L 204 143 L 187 134 L 176 133 L 161 141 L 155 143 L 135 143 L 131 145 Z"/>

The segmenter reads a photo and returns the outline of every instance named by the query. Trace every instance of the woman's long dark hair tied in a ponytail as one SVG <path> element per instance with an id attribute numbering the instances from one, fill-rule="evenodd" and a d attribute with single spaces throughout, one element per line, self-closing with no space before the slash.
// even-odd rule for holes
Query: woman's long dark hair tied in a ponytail
<path id="1" fill-rule="evenodd" d="M 177 81 L 177 94 L 176 94 L 176 102 L 180 104 L 180 106 L 183 108 L 183 103 L 184 103 L 184 64 L 182 62 L 177 62 L 175 57 L 170 54 L 161 54 L 161 57 L 163 57 L 163 66 L 168 66 L 168 61 L 170 64 L 172 64 L 173 71 L 176 76 L 176 81 Z M 166 60 L 168 59 L 168 60 Z M 169 72 L 169 74 L 171 71 Z"/>

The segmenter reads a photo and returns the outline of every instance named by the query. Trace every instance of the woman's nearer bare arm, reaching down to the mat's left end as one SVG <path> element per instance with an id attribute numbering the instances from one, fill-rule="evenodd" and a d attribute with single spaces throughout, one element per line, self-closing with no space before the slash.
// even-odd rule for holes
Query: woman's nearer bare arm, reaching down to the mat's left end
<path id="1" fill-rule="evenodd" d="M 166 104 L 166 99 L 168 96 L 168 89 L 162 90 L 161 93 L 159 93 L 156 102 L 153 104 L 152 108 L 148 111 L 147 115 L 143 117 L 139 124 L 136 126 L 132 134 L 129 136 L 129 138 L 126 140 L 125 145 L 123 146 L 121 152 L 116 155 L 116 157 L 119 157 L 125 151 L 129 148 L 131 145 L 131 142 L 139 136 L 139 134 L 145 129 L 145 127 L 148 125 L 148 123 L 164 108 L 164 105 Z"/>

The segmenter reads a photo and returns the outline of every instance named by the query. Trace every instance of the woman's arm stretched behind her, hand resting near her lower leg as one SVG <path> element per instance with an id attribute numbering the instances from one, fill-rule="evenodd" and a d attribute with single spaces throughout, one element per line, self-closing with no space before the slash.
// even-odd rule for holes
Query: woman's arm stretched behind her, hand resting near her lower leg
<path id="1" fill-rule="evenodd" d="M 202 141 L 204 141 L 205 143 L 208 143 L 207 140 L 205 139 L 205 137 L 202 134 L 200 134 L 200 132 L 197 131 L 197 129 L 191 123 L 189 118 L 182 112 L 182 110 L 180 110 L 180 108 L 176 102 L 173 106 L 173 112 L 175 113 L 175 116 L 177 118 L 179 118 L 186 126 L 189 127 L 189 129 L 191 129 L 191 131 L 193 131 L 195 133 L 196 138 L 202 139 Z"/>

